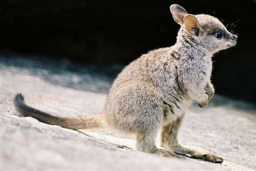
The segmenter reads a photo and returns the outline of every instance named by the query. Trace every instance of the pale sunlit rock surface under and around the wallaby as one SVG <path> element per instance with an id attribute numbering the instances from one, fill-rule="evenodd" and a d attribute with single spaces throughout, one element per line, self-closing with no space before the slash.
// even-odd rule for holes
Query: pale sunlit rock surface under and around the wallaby
<path id="1" fill-rule="evenodd" d="M 70 64 L 0 56 L 0 169 L 173 169 L 256 168 L 255 106 L 215 95 L 187 112 L 180 141 L 218 154 L 221 164 L 138 152 L 132 136 L 110 130 L 73 131 L 18 117 L 12 104 L 22 92 L 27 104 L 62 117 L 100 113 L 112 81 L 109 73 Z"/>

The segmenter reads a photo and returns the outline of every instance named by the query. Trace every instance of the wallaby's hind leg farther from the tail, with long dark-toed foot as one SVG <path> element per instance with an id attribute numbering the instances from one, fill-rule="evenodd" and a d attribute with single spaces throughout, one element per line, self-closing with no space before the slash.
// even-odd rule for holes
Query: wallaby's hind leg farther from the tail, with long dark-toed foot
<path id="1" fill-rule="evenodd" d="M 188 148 L 180 145 L 177 135 L 182 119 L 183 117 L 180 117 L 176 121 L 163 126 L 161 129 L 161 147 L 170 149 L 176 154 L 191 156 L 191 158 L 203 159 L 214 163 L 222 163 L 222 158 L 214 154 L 204 152 L 203 149 L 193 149 L 193 147 Z"/>

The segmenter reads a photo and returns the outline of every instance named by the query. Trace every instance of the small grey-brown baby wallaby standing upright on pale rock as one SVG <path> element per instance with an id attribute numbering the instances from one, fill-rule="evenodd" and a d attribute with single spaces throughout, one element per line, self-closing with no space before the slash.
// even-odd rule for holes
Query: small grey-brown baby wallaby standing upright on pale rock
<path id="1" fill-rule="evenodd" d="M 171 5 L 170 10 L 180 25 L 176 44 L 150 51 L 127 65 L 114 80 L 104 111 L 98 117 L 55 117 L 27 106 L 22 94 L 14 99 L 17 111 L 24 117 L 70 129 L 111 127 L 133 133 L 137 149 L 147 153 L 223 162 L 214 154 L 181 145 L 177 135 L 192 101 L 205 107 L 213 97 L 211 57 L 234 46 L 237 36 L 215 17 L 188 14 L 177 4 Z M 155 144 L 160 130 L 164 149 Z"/>

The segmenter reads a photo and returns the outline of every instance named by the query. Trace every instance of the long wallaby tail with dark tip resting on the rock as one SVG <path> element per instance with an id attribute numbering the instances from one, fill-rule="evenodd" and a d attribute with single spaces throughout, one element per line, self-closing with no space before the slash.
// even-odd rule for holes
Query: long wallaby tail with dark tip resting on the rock
<path id="1" fill-rule="evenodd" d="M 80 119 L 69 119 L 60 118 L 50 115 L 48 113 L 36 110 L 35 108 L 29 107 L 24 102 L 24 97 L 21 93 L 15 95 L 14 104 L 16 110 L 21 113 L 24 117 L 32 117 L 45 124 L 59 125 L 64 128 L 70 129 L 87 129 L 87 128 L 98 128 L 103 127 L 101 116 L 92 118 L 80 118 Z"/>

